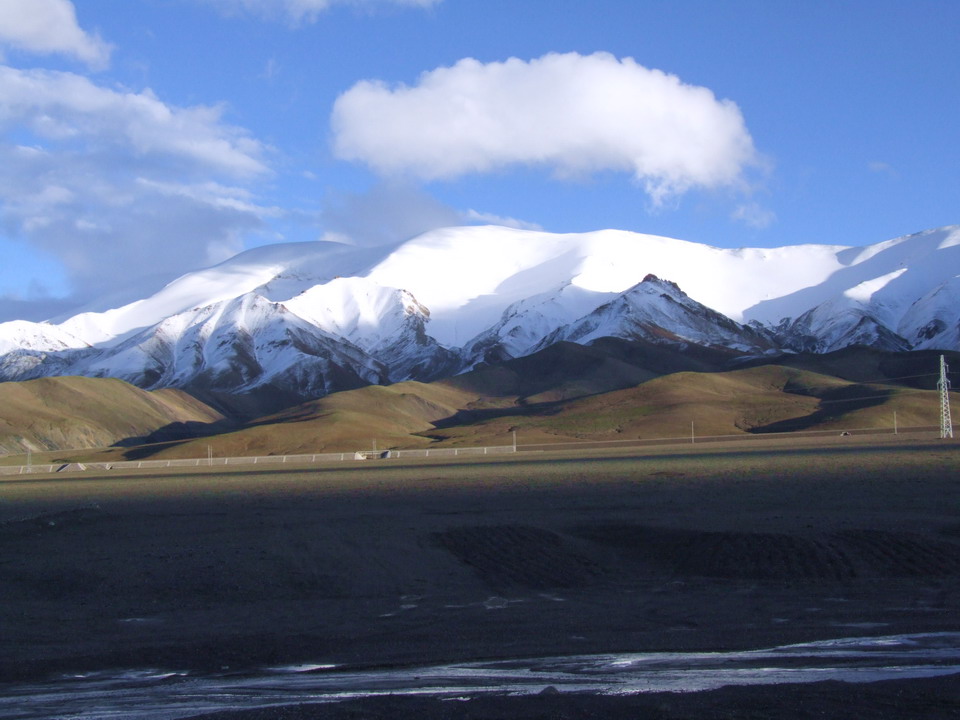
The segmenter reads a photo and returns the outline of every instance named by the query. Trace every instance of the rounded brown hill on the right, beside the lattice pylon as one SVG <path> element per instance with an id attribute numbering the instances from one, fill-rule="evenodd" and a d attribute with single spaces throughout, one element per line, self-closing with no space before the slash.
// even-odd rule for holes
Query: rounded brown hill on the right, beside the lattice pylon
<path id="1" fill-rule="evenodd" d="M 633 388 L 543 404 L 523 414 L 440 423 L 443 444 L 688 438 L 802 430 L 935 425 L 934 391 L 852 383 L 770 365 L 723 373 L 676 373 Z"/>

